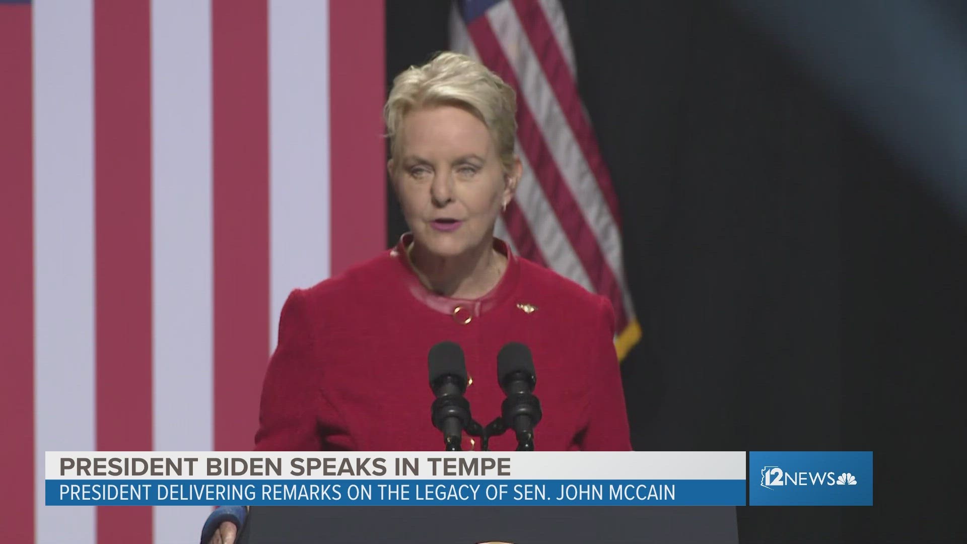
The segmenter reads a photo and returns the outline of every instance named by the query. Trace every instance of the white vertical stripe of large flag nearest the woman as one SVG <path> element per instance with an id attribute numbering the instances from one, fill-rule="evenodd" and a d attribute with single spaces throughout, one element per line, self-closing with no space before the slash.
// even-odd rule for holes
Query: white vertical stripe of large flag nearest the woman
<path id="1" fill-rule="evenodd" d="M 289 292 L 330 271 L 329 3 L 269 3 L 270 348 Z"/>

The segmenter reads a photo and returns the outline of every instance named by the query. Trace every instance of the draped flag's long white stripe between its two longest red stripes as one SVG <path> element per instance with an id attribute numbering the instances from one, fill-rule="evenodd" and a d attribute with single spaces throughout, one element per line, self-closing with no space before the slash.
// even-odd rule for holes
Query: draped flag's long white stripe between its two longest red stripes
<path id="1" fill-rule="evenodd" d="M 630 312 L 629 289 L 622 265 L 621 233 L 601 194 L 601 186 L 543 74 L 541 61 L 534 53 L 510 2 L 498 3 L 486 12 L 486 17 L 517 75 L 521 95 L 534 114 L 554 162 L 598 239 L 601 253 L 621 287 L 626 310 Z"/>

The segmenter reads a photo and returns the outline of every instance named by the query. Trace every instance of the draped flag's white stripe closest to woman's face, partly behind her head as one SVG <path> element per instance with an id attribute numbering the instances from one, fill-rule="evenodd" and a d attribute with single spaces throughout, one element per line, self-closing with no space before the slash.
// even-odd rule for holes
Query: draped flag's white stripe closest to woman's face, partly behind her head
<path id="1" fill-rule="evenodd" d="M 455 9 L 450 13 L 450 39 L 454 50 L 480 60 L 477 48 L 467 33 L 467 27 Z M 591 279 L 588 277 L 584 265 L 581 264 L 577 254 L 574 253 L 571 241 L 565 236 L 557 215 L 551 208 L 550 202 L 547 201 L 547 197 L 543 194 L 541 184 L 534 177 L 534 170 L 531 169 L 527 156 L 520 149 L 519 142 L 517 143 L 516 153 L 523 166 L 523 175 L 517 185 L 514 198 L 520 206 L 520 212 L 531 228 L 534 241 L 547 260 L 547 265 L 553 268 L 555 272 L 576 282 L 581 287 L 593 291 Z M 503 222 L 500 226 L 504 227 Z M 503 232 L 507 232 L 506 227 L 504 227 Z M 510 238 L 508 236 L 505 239 L 509 240 Z"/>

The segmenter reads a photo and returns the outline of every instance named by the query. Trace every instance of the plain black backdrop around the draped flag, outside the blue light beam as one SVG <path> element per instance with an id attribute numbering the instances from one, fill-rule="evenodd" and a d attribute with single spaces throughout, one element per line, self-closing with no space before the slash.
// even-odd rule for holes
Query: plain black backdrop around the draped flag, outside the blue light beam
<path id="1" fill-rule="evenodd" d="M 874 452 L 873 507 L 742 507 L 744 543 L 962 537 L 951 207 L 740 10 L 563 3 L 644 333 L 623 363 L 635 449 Z M 449 10 L 387 2 L 388 81 L 448 48 Z"/>

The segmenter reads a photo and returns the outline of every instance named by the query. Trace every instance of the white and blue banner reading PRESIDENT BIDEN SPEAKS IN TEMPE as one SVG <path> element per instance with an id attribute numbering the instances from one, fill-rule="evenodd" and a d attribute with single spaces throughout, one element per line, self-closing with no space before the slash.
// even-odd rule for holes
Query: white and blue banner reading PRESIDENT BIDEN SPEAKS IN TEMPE
<path id="1" fill-rule="evenodd" d="M 45 452 L 45 504 L 746 504 L 746 452 Z"/>

